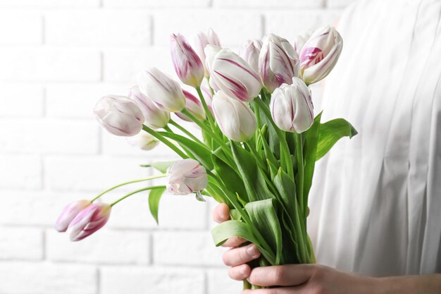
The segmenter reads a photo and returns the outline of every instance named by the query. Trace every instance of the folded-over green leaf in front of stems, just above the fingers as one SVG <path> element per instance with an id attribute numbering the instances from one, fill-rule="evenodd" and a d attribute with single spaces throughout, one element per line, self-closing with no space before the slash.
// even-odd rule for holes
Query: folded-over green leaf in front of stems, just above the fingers
<path id="1" fill-rule="evenodd" d="M 245 210 L 257 231 L 275 252 L 275 264 L 280 264 L 283 240 L 276 203 L 274 198 L 249 202 L 245 205 Z"/>

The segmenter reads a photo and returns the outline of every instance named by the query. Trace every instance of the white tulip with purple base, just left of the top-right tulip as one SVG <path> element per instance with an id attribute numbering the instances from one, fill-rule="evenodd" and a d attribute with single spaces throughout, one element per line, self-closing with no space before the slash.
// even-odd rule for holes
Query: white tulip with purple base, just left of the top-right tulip
<path id="1" fill-rule="evenodd" d="M 263 38 L 259 55 L 259 74 L 268 92 L 282 84 L 290 84 L 299 75 L 299 57 L 292 45 L 274 34 Z"/>

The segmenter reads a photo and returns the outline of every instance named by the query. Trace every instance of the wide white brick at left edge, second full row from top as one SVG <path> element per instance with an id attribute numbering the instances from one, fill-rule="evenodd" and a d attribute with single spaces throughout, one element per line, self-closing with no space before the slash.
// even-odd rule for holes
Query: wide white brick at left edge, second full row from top
<path id="1" fill-rule="evenodd" d="M 0 80 L 93 82 L 101 79 L 101 56 L 91 49 L 0 48 Z"/>

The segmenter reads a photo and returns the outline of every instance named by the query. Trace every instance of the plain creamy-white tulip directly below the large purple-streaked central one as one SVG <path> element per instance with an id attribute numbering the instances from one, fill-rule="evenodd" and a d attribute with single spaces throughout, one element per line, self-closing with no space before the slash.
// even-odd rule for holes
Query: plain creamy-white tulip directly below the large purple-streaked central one
<path id="1" fill-rule="evenodd" d="M 222 133 L 233 141 L 248 141 L 256 132 L 256 116 L 249 106 L 222 91 L 214 94 L 213 112 Z"/>

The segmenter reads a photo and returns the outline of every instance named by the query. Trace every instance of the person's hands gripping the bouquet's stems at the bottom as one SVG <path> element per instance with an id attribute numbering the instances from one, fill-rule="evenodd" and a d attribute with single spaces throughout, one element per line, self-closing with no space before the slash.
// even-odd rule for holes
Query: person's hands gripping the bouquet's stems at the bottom
<path id="1" fill-rule="evenodd" d="M 218 223 L 230 219 L 226 204 L 218 204 L 213 219 Z M 375 293 L 376 279 L 356 276 L 337 271 L 318 264 L 287 264 L 275 267 L 256 267 L 252 269 L 247 262 L 260 256 L 254 244 L 237 247 L 246 240 L 230 238 L 223 244 L 233 247 L 223 254 L 223 262 L 231 267 L 229 275 L 235 280 L 247 280 L 256 286 L 271 286 L 256 290 L 245 290 L 247 294 L 363 294 Z M 274 288 L 276 287 L 276 288 Z"/>

